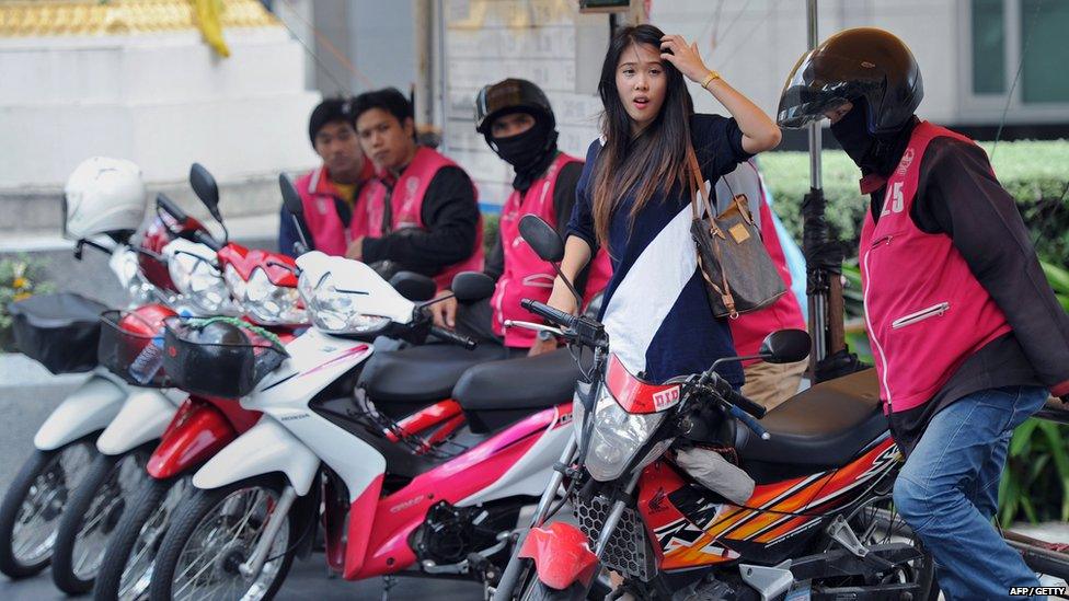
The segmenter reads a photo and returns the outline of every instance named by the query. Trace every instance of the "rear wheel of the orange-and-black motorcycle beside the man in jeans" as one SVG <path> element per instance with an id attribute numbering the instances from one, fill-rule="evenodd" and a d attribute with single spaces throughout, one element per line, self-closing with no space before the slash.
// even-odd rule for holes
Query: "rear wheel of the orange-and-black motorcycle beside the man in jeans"
<path id="1" fill-rule="evenodd" d="M 858 540 L 865 546 L 907 543 L 922 554 L 920 558 L 896 565 L 888 570 L 871 578 L 850 576 L 841 578 L 825 578 L 813 582 L 814 591 L 818 588 L 864 587 L 875 585 L 917 585 L 916 601 L 934 601 L 939 598 L 939 587 L 935 585 L 935 564 L 931 554 L 923 547 L 920 539 L 903 521 L 894 509 L 890 495 L 874 496 L 847 515 L 847 523 L 853 529 Z M 828 542 L 829 547 L 838 547 L 835 542 Z"/>

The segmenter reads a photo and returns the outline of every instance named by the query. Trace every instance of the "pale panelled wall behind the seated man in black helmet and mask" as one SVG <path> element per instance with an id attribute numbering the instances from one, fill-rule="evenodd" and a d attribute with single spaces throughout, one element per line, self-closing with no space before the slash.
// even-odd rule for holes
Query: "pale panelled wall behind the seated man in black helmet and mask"
<path id="1" fill-rule="evenodd" d="M 507 198 L 511 169 L 475 132 L 475 94 L 508 77 L 533 81 L 553 104 L 561 149 L 585 157 L 598 135 L 595 86 L 608 18 L 581 15 L 566 0 L 445 0 L 444 8 L 444 148 L 475 180 L 484 207 L 494 208 Z"/>

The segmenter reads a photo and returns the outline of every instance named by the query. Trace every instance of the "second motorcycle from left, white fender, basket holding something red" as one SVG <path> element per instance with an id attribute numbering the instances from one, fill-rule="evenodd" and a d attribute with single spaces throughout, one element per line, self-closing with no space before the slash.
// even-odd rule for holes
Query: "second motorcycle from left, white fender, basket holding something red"
<path id="1" fill-rule="evenodd" d="M 205 269 L 220 244 L 165 196 L 157 198 L 157 207 L 172 235 L 148 265 L 166 267 L 166 279 L 160 281 L 170 284 L 174 293 L 166 294 L 163 302 L 101 315 L 99 360 L 131 392 L 96 439 L 99 454 L 71 494 L 56 529 L 51 576 L 69 594 L 93 588 L 107 542 L 145 482 L 152 449 L 188 396 L 172 388 L 159 369 L 163 320 L 179 313 L 233 311 L 221 277 Z M 187 238 L 197 242 L 180 235 L 183 231 L 191 231 Z"/>

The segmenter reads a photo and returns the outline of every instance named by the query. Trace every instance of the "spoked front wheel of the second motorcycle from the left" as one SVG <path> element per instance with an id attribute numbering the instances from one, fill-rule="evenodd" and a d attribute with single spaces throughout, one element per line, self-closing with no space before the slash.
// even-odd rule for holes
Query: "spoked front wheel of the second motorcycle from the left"
<path id="1" fill-rule="evenodd" d="M 81 485 L 71 495 L 56 532 L 51 578 L 68 594 L 93 588 L 107 542 L 149 477 L 148 450 L 122 455 L 97 455 Z"/>

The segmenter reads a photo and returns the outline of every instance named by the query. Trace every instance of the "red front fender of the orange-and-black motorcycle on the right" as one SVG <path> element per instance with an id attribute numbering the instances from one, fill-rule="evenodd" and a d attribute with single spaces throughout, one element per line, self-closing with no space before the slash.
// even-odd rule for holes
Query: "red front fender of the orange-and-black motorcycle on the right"
<path id="1" fill-rule="evenodd" d="M 598 567 L 598 556 L 590 551 L 586 534 L 564 522 L 532 528 L 519 556 L 533 559 L 538 579 L 556 590 L 564 590 L 575 582 L 589 587 Z"/>

